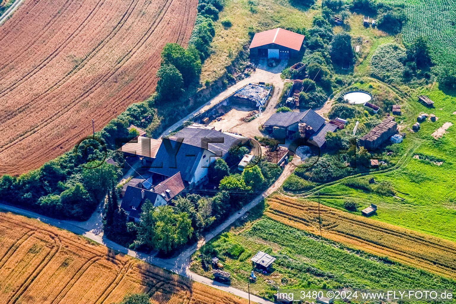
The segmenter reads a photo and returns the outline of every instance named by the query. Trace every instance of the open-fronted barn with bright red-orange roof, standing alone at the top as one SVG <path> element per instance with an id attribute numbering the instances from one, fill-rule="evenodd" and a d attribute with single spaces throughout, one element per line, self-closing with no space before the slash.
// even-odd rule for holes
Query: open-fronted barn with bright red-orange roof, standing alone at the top
<path id="1" fill-rule="evenodd" d="M 256 33 L 250 43 L 250 56 L 254 58 L 290 59 L 301 51 L 304 35 L 281 28 Z"/>

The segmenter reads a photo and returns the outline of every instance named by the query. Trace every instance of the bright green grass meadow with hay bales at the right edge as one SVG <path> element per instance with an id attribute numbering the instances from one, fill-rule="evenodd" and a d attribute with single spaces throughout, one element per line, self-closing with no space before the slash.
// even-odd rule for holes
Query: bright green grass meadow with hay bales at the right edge
<path id="1" fill-rule="evenodd" d="M 373 218 L 379 221 L 456 241 L 455 126 L 447 129 L 440 139 L 431 135 L 446 122 L 456 124 L 456 115 L 453 114 L 456 98 L 445 95 L 436 85 L 421 88 L 416 94 L 429 96 L 435 102 L 435 108 L 425 108 L 416 97 L 409 98 L 404 104 L 404 119 L 398 123 L 404 126 L 407 138 L 397 145 L 403 148 L 400 155 L 409 149 L 413 152 L 406 156 L 404 165 L 398 169 L 373 175 L 376 181 L 392 182 L 397 197 L 378 196 L 336 183 L 320 189 L 321 201 L 339 208 L 343 208 L 344 201 L 354 201 L 358 210 L 373 202 L 378 205 L 377 215 Z M 421 124 L 419 132 L 410 133 L 406 129 L 411 127 L 420 112 L 434 113 L 438 120 L 431 122 L 428 119 Z M 316 196 L 309 198 L 316 200 Z"/>

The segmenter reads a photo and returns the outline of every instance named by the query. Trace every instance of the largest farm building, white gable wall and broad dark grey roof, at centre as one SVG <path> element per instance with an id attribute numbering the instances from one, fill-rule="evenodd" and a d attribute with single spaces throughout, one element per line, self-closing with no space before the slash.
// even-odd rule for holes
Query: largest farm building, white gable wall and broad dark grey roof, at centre
<path id="1" fill-rule="evenodd" d="M 229 148 L 248 140 L 216 130 L 184 128 L 163 139 L 150 172 L 165 177 L 181 172 L 182 180 L 193 187 L 207 180 L 207 170 L 216 158 L 225 158 Z"/>

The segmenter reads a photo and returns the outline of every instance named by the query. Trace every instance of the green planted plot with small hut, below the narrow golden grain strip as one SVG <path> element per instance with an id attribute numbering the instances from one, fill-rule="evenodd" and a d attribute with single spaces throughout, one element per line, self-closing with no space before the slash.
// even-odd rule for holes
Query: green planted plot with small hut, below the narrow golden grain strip
<path id="1" fill-rule="evenodd" d="M 250 252 L 246 258 L 230 257 L 227 249 L 233 244 Z M 271 299 L 274 286 L 286 288 L 451 288 L 456 282 L 425 271 L 391 263 L 370 254 L 355 251 L 340 244 L 321 241 L 316 236 L 262 218 L 233 227 L 213 239 L 209 245 L 218 251 L 224 270 L 232 274 L 231 285 L 247 290 L 252 270 L 251 258 L 259 250 L 277 257 L 274 271 L 262 274 L 255 271 L 257 281 L 250 291 Z M 192 271 L 211 277 L 201 268 L 195 253 Z M 215 256 L 215 255 L 214 255 Z M 211 256 L 212 257 L 212 256 Z M 245 258 L 245 260 L 244 260 Z M 274 285 L 274 286 L 272 286 Z"/>

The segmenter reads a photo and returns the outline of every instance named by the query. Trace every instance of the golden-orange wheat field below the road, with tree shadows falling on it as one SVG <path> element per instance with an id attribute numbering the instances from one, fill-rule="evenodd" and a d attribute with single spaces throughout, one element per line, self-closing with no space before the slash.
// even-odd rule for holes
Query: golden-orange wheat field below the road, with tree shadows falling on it
<path id="1" fill-rule="evenodd" d="M 157 304 L 247 303 L 73 233 L 0 214 L 0 304 L 111 304 L 138 292 Z"/>

